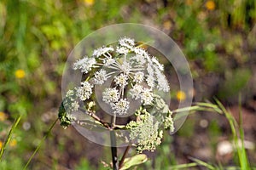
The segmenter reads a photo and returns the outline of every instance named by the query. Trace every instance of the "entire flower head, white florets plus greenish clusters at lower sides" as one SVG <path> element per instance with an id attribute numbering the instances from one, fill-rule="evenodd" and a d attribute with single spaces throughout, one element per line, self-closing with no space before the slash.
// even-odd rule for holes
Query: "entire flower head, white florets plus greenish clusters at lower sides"
<path id="1" fill-rule="evenodd" d="M 94 88 L 111 81 L 111 86 L 103 89 L 101 97 L 114 116 L 129 116 L 131 99 L 140 103 L 141 108 L 147 112 L 145 119 L 137 119 L 137 122 L 131 122 L 135 126 L 129 124 L 127 127 L 131 129 L 131 140 L 136 139 L 141 150 L 154 150 L 155 146 L 160 144 L 160 124 L 164 123 L 165 127 L 174 129 L 171 111 L 157 94 L 170 91 L 163 72 L 164 65 L 133 39 L 124 37 L 119 39 L 116 46 L 97 48 L 91 56 L 84 56 L 83 59 L 75 61 L 73 69 L 81 71 L 85 80 L 79 87 L 67 92 L 63 101 L 67 112 L 69 111 L 67 114 L 79 111 L 79 103 L 94 100 Z M 152 109 L 154 107 L 155 109 Z M 154 116 L 158 115 L 157 121 L 149 114 L 149 110 L 154 111 Z M 65 115 L 65 120 L 67 125 L 75 119 Z M 145 133 L 141 132 L 143 129 Z M 143 144 L 140 144 L 142 142 Z M 146 147 L 148 144 L 151 146 Z"/>

